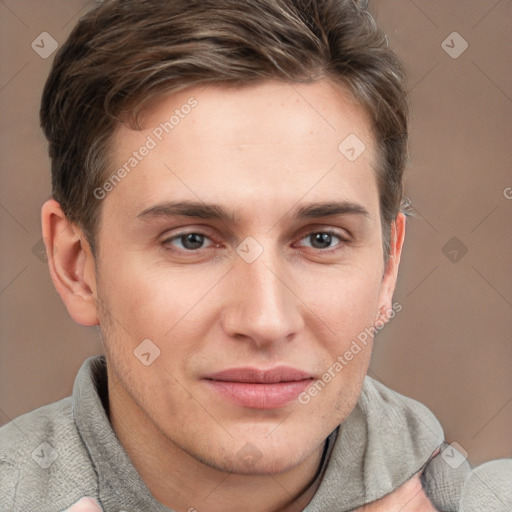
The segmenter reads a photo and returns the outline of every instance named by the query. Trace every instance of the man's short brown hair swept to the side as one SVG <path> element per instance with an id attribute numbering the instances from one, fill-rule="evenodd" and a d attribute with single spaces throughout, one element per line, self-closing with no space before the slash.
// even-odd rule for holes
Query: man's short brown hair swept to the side
<path id="1" fill-rule="evenodd" d="M 405 78 L 386 36 L 355 0 L 105 0 L 56 54 L 41 125 L 53 197 L 94 251 L 109 144 L 121 116 L 157 95 L 208 83 L 328 78 L 369 114 L 379 156 L 385 257 L 407 153 Z M 341 142 L 341 141 L 340 141 Z"/>

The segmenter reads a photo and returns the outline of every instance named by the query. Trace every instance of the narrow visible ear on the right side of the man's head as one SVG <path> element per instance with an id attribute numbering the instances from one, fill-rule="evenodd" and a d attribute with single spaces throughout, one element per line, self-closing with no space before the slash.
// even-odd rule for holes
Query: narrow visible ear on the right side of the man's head
<path id="1" fill-rule="evenodd" d="M 379 311 L 376 319 L 383 323 L 389 320 L 389 313 L 392 311 L 393 292 L 395 291 L 398 267 L 405 239 L 405 221 L 405 215 L 399 213 L 391 224 L 389 258 L 380 285 Z"/>

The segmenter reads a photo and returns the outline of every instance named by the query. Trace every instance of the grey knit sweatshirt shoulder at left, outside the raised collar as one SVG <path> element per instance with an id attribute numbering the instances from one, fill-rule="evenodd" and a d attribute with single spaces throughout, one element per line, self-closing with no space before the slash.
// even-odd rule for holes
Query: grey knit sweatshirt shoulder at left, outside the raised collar
<path id="1" fill-rule="evenodd" d="M 96 485 L 71 397 L 0 428 L 0 510 L 64 510 Z"/>

